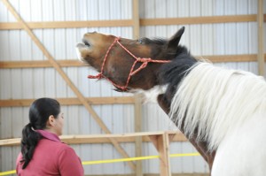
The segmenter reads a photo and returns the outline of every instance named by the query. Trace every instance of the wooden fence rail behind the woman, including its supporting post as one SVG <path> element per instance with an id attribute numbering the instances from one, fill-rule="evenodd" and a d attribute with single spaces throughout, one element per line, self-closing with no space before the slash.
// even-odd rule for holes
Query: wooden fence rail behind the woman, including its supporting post
<path id="1" fill-rule="evenodd" d="M 171 176 L 169 160 L 169 142 L 185 142 L 183 134 L 176 132 L 146 132 L 135 134 L 95 134 L 95 135 L 62 135 L 60 139 L 67 144 L 83 143 L 106 143 L 116 142 L 136 142 L 136 139 L 144 142 L 153 142 L 160 157 L 160 175 Z M 111 140 L 112 139 L 112 140 Z M 0 140 L 1 146 L 16 146 L 20 144 L 20 138 Z"/>

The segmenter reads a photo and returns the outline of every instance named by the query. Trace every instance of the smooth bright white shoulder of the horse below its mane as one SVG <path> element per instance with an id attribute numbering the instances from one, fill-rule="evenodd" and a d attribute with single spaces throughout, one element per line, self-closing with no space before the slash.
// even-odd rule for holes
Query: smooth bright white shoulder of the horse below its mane
<path id="1" fill-rule="evenodd" d="M 254 114 L 224 137 L 212 169 L 214 176 L 264 176 L 266 173 L 265 115 Z"/>

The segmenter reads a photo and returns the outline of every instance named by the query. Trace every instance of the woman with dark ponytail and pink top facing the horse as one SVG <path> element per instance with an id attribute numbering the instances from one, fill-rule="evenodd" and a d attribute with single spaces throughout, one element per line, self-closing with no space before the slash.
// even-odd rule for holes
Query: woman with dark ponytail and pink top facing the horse
<path id="1" fill-rule="evenodd" d="M 63 112 L 51 98 L 35 100 L 29 109 L 29 123 L 22 130 L 18 175 L 83 175 L 82 163 L 74 149 L 61 142 Z"/>

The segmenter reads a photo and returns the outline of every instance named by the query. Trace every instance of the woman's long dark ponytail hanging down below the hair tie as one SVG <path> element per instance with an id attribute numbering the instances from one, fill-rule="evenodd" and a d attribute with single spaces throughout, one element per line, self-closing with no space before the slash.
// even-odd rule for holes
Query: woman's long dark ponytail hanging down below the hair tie
<path id="1" fill-rule="evenodd" d="M 24 163 L 22 169 L 25 169 L 32 159 L 35 147 L 41 138 L 42 135 L 36 133 L 30 123 L 28 123 L 27 126 L 24 126 L 20 144 L 22 153 L 22 160 L 20 160 L 20 163 Z"/>

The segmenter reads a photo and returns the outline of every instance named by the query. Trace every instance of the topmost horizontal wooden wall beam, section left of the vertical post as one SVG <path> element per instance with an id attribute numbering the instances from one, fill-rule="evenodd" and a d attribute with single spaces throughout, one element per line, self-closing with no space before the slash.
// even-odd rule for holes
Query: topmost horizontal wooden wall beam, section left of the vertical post
<path id="1" fill-rule="evenodd" d="M 30 29 L 79 28 L 79 27 L 132 27 L 133 25 L 134 25 L 133 19 L 27 22 L 27 26 Z M 18 22 L 0 23 L 0 30 L 19 30 L 19 29 L 23 29 L 23 27 Z"/>

